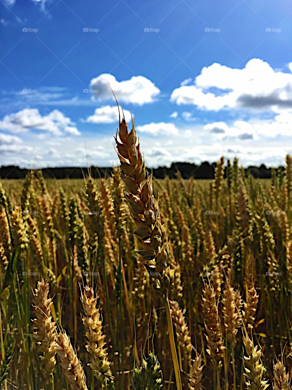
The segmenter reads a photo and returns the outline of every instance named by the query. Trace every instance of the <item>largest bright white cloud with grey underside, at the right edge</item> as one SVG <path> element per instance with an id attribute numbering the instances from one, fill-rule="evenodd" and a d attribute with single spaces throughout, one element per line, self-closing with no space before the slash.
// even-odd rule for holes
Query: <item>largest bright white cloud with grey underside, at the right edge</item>
<path id="1" fill-rule="evenodd" d="M 291 70 L 291 64 L 289 64 Z M 218 63 L 204 67 L 193 85 L 173 90 L 171 101 L 192 104 L 202 110 L 248 108 L 253 110 L 292 109 L 292 74 L 275 71 L 259 58 L 243 69 Z"/>

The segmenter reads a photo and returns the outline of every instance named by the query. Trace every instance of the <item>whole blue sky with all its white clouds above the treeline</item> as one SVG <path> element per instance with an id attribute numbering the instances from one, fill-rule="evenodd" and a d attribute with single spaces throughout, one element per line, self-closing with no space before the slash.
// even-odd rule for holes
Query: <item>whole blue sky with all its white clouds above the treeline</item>
<path id="1" fill-rule="evenodd" d="M 288 1 L 0 1 L 0 164 L 111 166 L 131 109 L 148 166 L 291 152 Z"/>

